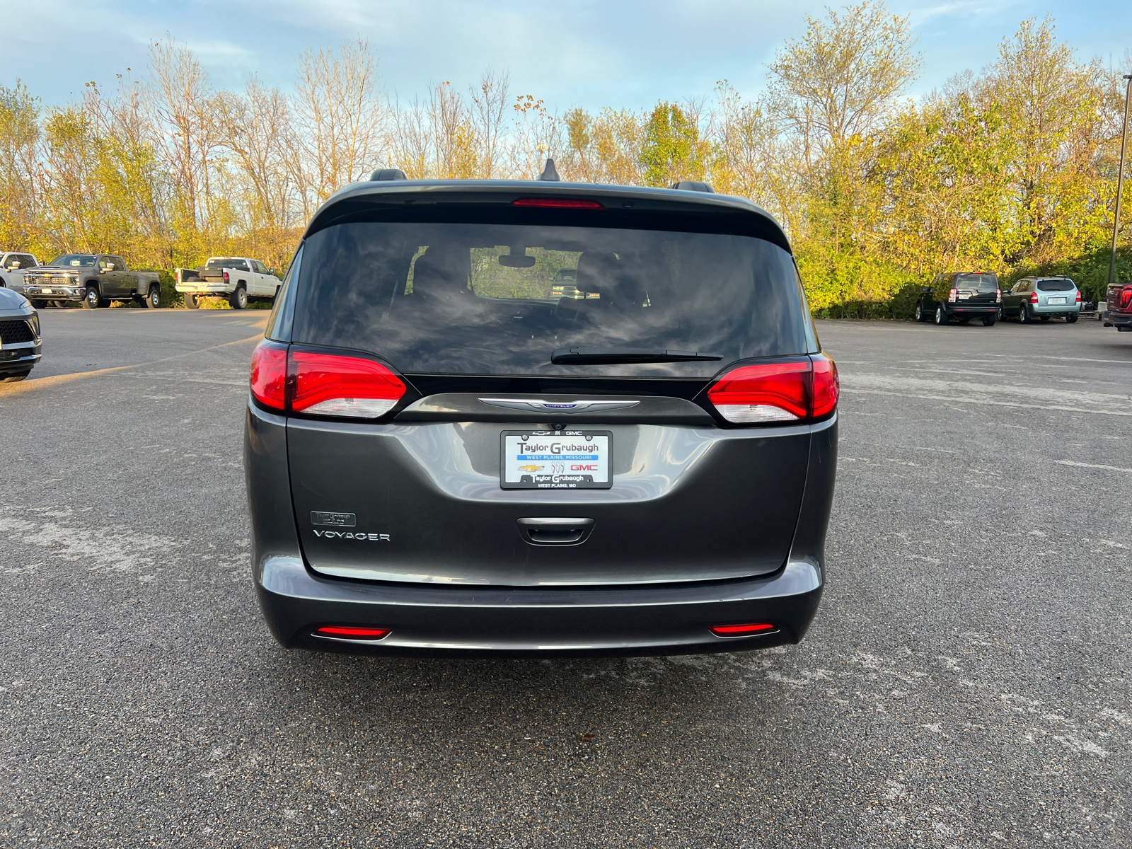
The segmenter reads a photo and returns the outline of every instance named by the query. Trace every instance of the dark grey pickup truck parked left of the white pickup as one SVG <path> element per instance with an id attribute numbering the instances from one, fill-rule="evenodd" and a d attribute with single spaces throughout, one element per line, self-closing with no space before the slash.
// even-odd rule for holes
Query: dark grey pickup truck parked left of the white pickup
<path id="1" fill-rule="evenodd" d="M 82 301 L 85 309 L 109 307 L 111 301 L 161 306 L 156 272 L 132 272 L 113 254 L 63 254 L 24 275 L 24 294 L 36 309 Z"/>

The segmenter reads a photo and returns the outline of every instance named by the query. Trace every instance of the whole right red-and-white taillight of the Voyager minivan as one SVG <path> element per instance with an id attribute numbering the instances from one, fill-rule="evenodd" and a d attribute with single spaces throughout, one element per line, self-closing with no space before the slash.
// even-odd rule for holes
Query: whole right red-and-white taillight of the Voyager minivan
<path id="1" fill-rule="evenodd" d="M 816 354 L 801 362 L 740 366 L 707 391 L 707 400 L 728 421 L 765 424 L 829 415 L 839 394 L 838 367 Z"/>

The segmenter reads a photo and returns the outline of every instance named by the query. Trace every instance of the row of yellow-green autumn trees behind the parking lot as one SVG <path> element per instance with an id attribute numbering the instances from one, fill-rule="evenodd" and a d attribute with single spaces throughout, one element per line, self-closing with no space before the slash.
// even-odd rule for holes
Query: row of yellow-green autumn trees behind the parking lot
<path id="1" fill-rule="evenodd" d="M 829 315 L 901 315 L 947 269 L 1067 271 L 1099 291 L 1118 71 L 1030 19 L 978 74 L 910 100 L 920 60 L 907 18 L 864 2 L 807 24 L 760 96 L 723 80 L 643 112 L 552 111 L 490 69 L 466 91 L 441 82 L 402 101 L 361 41 L 305 52 L 289 92 L 255 77 L 220 91 L 188 48 L 154 43 L 143 78 L 88 83 L 67 105 L 0 87 L 0 248 L 283 268 L 318 205 L 376 168 L 529 179 L 549 155 L 566 180 L 706 180 L 753 198 L 789 232 L 811 307 Z"/>

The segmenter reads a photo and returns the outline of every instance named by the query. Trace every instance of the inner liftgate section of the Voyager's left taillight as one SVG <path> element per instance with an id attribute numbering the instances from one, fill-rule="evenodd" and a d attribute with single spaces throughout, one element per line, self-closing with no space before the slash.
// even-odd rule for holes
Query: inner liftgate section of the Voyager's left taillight
<path id="1" fill-rule="evenodd" d="M 291 352 L 297 413 L 376 419 L 405 394 L 405 385 L 379 362 L 358 357 Z"/>

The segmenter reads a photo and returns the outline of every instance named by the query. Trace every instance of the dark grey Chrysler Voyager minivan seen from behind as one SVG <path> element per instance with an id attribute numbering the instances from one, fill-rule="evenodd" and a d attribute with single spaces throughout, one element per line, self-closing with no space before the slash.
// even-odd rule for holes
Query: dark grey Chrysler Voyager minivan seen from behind
<path id="1" fill-rule="evenodd" d="M 552 295 L 563 268 L 584 297 Z M 731 651 L 817 608 L 837 369 L 745 199 L 355 183 L 250 379 L 255 584 L 285 646 Z"/>

